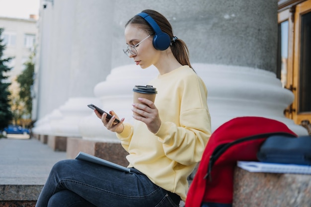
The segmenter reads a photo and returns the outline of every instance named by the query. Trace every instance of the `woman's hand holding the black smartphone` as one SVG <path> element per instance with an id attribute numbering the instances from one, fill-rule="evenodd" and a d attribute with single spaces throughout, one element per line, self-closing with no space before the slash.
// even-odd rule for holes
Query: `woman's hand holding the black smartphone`
<path id="1" fill-rule="evenodd" d="M 119 119 L 119 117 L 114 113 L 114 111 L 110 111 L 109 114 L 112 115 L 111 119 L 106 119 L 107 114 L 103 113 L 103 115 L 100 115 L 100 113 L 98 113 L 98 111 L 95 109 L 94 110 L 96 116 L 101 119 L 102 123 L 104 124 L 104 126 L 110 130 L 111 132 L 116 132 L 116 133 L 122 133 L 124 130 L 124 118 L 122 118 L 121 120 Z M 120 123 L 116 123 L 114 122 L 115 119 L 119 119 Z"/>

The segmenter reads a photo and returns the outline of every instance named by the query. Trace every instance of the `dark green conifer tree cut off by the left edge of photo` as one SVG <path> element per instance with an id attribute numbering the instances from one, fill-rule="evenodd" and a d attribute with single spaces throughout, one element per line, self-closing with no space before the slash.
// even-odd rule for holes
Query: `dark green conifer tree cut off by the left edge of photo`
<path id="1" fill-rule="evenodd" d="M 3 32 L 3 28 L 0 28 L 0 37 Z M 3 58 L 3 51 L 5 45 L 3 39 L 0 39 L 0 130 L 7 127 L 12 120 L 12 112 L 10 111 L 9 98 L 10 92 L 8 86 L 10 83 L 7 79 L 7 72 L 11 69 L 6 66 L 12 58 Z"/>

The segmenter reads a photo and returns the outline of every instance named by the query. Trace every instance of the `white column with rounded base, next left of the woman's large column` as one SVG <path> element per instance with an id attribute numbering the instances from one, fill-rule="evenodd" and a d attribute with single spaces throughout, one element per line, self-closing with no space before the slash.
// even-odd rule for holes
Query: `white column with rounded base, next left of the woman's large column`
<path id="1" fill-rule="evenodd" d="M 58 136 L 82 137 L 78 129 L 81 119 L 92 111 L 87 104 L 98 104 L 94 86 L 109 73 L 111 66 L 111 21 L 113 1 L 78 0 L 75 30 L 72 35 L 69 70 L 69 99 L 60 107 L 64 119 L 51 123 Z"/>

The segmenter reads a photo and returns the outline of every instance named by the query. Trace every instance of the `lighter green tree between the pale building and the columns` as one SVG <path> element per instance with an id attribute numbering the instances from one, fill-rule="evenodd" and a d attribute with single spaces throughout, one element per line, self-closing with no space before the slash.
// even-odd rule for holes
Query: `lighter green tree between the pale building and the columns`
<path id="1" fill-rule="evenodd" d="M 17 82 L 19 83 L 19 98 L 24 103 L 26 115 L 31 115 L 32 110 L 32 97 L 31 97 L 31 87 L 33 85 L 33 75 L 35 65 L 33 63 L 35 53 L 29 56 L 29 59 L 24 63 L 24 71 L 17 76 Z"/>

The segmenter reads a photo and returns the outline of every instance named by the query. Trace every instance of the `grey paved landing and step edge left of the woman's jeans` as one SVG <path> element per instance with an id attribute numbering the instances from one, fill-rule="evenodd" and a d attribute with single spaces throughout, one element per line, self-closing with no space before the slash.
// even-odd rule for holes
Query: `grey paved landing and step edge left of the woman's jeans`
<path id="1" fill-rule="evenodd" d="M 0 138 L 0 207 L 34 207 L 52 166 L 66 159 L 38 139 Z"/>

